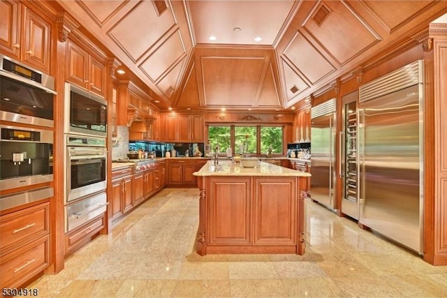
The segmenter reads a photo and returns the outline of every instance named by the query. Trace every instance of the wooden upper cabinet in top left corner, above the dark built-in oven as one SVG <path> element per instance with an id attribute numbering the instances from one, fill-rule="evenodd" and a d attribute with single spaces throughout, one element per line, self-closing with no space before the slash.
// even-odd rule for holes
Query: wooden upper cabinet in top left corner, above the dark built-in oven
<path id="1" fill-rule="evenodd" d="M 0 1 L 0 52 L 50 73 L 51 24 L 19 1 Z"/>

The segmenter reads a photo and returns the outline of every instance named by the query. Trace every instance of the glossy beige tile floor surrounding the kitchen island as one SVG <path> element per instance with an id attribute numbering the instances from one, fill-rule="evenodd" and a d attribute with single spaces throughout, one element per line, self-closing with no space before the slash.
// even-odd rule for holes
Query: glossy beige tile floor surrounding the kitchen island
<path id="1" fill-rule="evenodd" d="M 32 283 L 39 297 L 447 297 L 447 266 L 307 202 L 305 255 L 194 250 L 198 190 L 166 188 Z"/>

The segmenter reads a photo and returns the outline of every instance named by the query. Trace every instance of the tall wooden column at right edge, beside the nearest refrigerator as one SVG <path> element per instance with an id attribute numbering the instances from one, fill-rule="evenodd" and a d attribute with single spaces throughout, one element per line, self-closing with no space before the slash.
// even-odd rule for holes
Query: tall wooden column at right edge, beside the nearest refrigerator
<path id="1" fill-rule="evenodd" d="M 447 265 L 447 24 L 430 24 L 425 51 L 424 260 Z"/>

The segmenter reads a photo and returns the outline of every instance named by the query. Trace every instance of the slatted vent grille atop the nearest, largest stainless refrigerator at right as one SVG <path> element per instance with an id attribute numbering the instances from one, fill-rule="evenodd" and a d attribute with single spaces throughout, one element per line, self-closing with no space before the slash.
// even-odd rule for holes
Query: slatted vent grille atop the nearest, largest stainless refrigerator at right
<path id="1" fill-rule="evenodd" d="M 388 75 L 360 86 L 359 101 L 364 103 L 395 91 L 423 83 L 423 60 L 414 61 Z"/>

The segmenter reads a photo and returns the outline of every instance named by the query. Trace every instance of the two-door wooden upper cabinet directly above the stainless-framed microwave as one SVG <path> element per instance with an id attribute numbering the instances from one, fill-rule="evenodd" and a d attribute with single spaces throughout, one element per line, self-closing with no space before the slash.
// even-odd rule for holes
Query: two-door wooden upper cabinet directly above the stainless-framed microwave
<path id="1" fill-rule="evenodd" d="M 95 94 L 105 96 L 105 64 L 93 57 L 87 51 L 67 40 L 67 77 L 73 84 L 77 84 Z"/>

